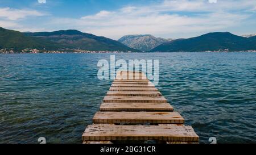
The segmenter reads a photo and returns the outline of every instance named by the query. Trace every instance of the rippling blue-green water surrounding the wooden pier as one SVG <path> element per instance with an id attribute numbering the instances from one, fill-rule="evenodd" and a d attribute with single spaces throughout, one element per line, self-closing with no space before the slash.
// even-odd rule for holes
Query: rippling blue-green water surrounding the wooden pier
<path id="1" fill-rule="evenodd" d="M 201 143 L 256 143 L 256 53 L 120 53 L 158 59 L 159 85 Z M 0 143 L 81 143 L 112 81 L 110 54 L 0 55 Z"/>

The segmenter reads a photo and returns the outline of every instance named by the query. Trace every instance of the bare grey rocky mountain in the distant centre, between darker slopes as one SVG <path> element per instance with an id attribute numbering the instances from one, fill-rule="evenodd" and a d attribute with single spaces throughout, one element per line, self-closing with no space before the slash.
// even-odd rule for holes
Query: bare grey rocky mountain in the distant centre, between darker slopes
<path id="1" fill-rule="evenodd" d="M 138 49 L 140 51 L 150 51 L 158 45 L 171 40 L 172 39 L 154 37 L 152 35 L 126 35 L 121 37 L 118 41 L 130 48 Z"/>

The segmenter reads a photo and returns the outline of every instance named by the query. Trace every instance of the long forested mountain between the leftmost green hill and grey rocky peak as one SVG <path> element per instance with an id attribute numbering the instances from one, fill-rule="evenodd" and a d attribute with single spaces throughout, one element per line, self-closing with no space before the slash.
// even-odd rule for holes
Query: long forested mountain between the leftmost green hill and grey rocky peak
<path id="1" fill-rule="evenodd" d="M 83 33 L 77 30 L 61 30 L 54 32 L 24 33 L 26 36 L 41 38 L 60 44 L 65 48 L 82 49 L 88 51 L 135 51 L 116 40 L 102 36 Z"/>

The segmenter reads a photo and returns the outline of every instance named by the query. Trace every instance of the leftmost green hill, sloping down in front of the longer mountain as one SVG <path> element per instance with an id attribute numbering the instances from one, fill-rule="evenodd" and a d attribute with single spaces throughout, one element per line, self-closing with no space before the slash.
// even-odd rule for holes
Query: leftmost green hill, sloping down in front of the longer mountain
<path id="1" fill-rule="evenodd" d="M 51 41 L 25 36 L 22 32 L 7 30 L 0 27 L 0 49 L 14 49 L 20 51 L 25 48 L 57 49 L 61 46 Z"/>

